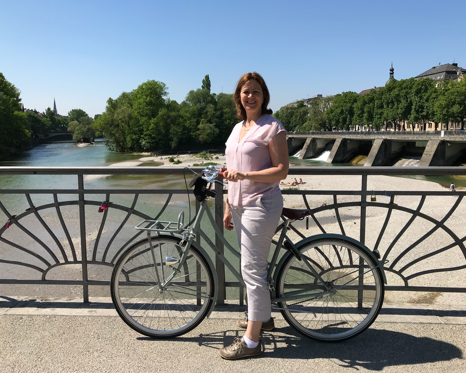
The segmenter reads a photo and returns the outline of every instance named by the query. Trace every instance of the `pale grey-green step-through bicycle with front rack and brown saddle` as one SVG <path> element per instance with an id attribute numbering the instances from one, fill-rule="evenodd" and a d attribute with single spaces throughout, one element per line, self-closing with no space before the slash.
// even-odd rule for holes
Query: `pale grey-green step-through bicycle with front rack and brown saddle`
<path id="1" fill-rule="evenodd" d="M 212 260 L 195 241 L 198 235 L 246 287 L 240 273 L 199 227 L 207 214 L 225 247 L 240 258 L 207 205 L 223 170 L 206 167 L 191 181 L 201 202 L 191 225 L 184 224 L 184 212 L 176 222 L 142 221 L 136 229 L 147 231 L 147 238 L 117 260 L 110 282 L 112 301 L 123 321 L 137 332 L 153 338 L 177 337 L 211 314 L 219 284 Z M 309 214 L 309 210 L 283 208 L 280 238 L 267 269 L 272 309 L 280 310 L 288 324 L 308 338 L 343 341 L 367 329 L 380 312 L 386 283 L 380 255 L 337 234 L 293 243 L 287 236 L 291 223 Z M 281 248 L 286 252 L 278 260 Z"/>

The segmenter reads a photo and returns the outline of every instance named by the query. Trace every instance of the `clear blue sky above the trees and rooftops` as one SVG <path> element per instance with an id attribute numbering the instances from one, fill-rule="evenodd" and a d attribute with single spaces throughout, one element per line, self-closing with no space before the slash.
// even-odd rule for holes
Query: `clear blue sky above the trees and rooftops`
<path id="1" fill-rule="evenodd" d="M 461 6 L 459 6 L 462 3 Z M 465 2 L 5 1 L 0 72 L 25 107 L 101 113 L 148 79 L 183 101 L 209 74 L 232 93 L 264 76 L 278 110 L 315 94 L 359 92 L 439 62 L 466 68 Z M 458 5 L 458 7 L 457 7 Z"/>

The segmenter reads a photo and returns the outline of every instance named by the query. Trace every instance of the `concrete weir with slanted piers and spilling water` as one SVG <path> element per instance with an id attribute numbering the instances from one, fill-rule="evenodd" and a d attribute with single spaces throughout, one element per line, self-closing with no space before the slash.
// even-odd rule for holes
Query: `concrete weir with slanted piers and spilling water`
<path id="1" fill-rule="evenodd" d="M 299 159 L 331 151 L 328 163 L 348 163 L 367 156 L 364 166 L 393 166 L 399 159 L 420 159 L 418 166 L 466 164 L 466 134 L 460 131 L 370 131 L 288 133 L 288 154 Z M 445 133 L 446 132 L 446 133 Z"/>

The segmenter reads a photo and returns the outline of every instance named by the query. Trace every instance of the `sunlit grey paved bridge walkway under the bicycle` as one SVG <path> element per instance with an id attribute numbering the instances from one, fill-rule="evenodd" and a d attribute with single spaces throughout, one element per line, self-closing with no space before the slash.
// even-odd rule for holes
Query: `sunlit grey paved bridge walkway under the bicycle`
<path id="1" fill-rule="evenodd" d="M 466 371 L 461 306 L 435 305 L 432 311 L 408 304 L 397 312 L 410 322 L 395 322 L 397 308 L 387 305 L 369 330 L 336 344 L 302 338 L 274 314 L 277 328 L 263 333 L 262 355 L 236 361 L 221 359 L 217 350 L 243 334 L 234 322 L 239 307 L 218 308 L 194 331 L 172 340 L 132 331 L 110 307 L 0 297 L 0 372 Z"/>

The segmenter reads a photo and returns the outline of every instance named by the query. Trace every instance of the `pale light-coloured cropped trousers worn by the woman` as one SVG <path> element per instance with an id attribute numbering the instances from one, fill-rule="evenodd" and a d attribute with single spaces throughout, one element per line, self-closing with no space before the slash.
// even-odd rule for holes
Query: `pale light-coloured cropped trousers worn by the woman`
<path id="1" fill-rule="evenodd" d="M 251 321 L 271 318 L 267 259 L 282 208 L 281 193 L 231 208 L 241 251 L 241 273 L 246 283 L 247 317 Z"/>

